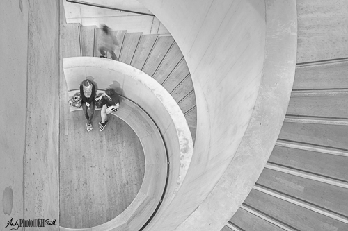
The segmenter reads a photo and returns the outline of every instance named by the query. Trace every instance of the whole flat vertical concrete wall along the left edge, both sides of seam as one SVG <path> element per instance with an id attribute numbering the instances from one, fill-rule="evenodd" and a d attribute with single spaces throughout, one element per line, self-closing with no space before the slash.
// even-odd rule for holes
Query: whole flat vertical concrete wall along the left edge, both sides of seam
<path id="1" fill-rule="evenodd" d="M 1 101 L 6 105 L 1 109 L 1 230 L 9 230 L 11 218 L 13 223 L 56 219 L 49 230 L 58 230 L 58 1 L 1 1 L 0 9 L 6 96 Z"/>

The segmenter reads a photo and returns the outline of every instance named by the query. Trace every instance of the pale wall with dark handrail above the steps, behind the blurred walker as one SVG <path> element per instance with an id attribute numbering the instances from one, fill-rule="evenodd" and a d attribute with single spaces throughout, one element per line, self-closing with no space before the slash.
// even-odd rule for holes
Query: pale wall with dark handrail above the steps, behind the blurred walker
<path id="1" fill-rule="evenodd" d="M 84 2 L 152 14 L 136 0 L 87 0 Z M 164 25 L 159 22 L 159 19 L 153 16 L 85 6 L 77 3 L 69 3 L 65 0 L 63 4 L 67 23 L 79 23 L 83 26 L 100 26 L 100 24 L 106 24 L 114 31 L 127 30 L 128 33 L 141 32 L 144 35 L 169 35 Z"/>

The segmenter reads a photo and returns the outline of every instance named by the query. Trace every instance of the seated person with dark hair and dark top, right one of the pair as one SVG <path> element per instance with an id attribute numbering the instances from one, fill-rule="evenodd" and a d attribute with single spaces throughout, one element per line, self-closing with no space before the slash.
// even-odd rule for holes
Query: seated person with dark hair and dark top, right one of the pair
<path id="1" fill-rule="evenodd" d="M 101 96 L 95 98 L 95 101 L 102 101 L 102 110 L 100 111 L 102 121 L 99 123 L 101 132 L 108 123 L 107 115 L 111 112 L 116 112 L 120 108 L 120 96 L 114 89 L 109 88 Z"/>

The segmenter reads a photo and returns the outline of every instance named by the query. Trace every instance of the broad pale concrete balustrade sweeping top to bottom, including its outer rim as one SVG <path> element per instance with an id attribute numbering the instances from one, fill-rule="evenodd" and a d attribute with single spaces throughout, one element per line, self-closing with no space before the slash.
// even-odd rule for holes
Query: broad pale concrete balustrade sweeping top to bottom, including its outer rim
<path id="1" fill-rule="evenodd" d="M 258 179 L 285 117 L 296 61 L 295 2 L 141 3 L 180 46 L 198 117 L 187 178 L 145 230 L 221 230 Z"/>

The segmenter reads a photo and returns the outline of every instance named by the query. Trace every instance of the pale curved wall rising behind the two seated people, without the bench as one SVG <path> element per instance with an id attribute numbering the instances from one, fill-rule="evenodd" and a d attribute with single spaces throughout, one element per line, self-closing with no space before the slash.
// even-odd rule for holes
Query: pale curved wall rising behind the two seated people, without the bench
<path id="1" fill-rule="evenodd" d="M 86 76 L 91 76 L 97 89 L 115 88 L 118 93 L 138 103 L 155 121 L 169 157 L 168 187 L 161 207 L 169 203 L 180 189 L 193 154 L 189 126 L 173 97 L 156 80 L 122 62 L 101 58 L 63 59 L 68 89 L 77 89 Z"/>

